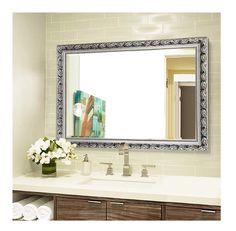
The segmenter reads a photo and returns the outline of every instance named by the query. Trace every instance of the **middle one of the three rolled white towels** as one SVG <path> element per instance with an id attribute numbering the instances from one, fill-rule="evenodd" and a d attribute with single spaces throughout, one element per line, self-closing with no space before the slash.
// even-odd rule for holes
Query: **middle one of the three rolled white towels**
<path id="1" fill-rule="evenodd" d="M 41 205 L 47 203 L 50 200 L 49 197 L 41 197 L 38 200 L 35 200 L 24 206 L 23 210 L 23 219 L 25 221 L 32 221 L 37 218 L 37 209 Z"/>

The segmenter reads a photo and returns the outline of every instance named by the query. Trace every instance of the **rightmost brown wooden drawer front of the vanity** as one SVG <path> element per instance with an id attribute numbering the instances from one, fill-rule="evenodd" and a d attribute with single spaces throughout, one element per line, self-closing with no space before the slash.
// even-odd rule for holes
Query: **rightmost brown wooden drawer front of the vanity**
<path id="1" fill-rule="evenodd" d="M 166 220 L 220 220 L 220 210 L 166 206 Z"/>

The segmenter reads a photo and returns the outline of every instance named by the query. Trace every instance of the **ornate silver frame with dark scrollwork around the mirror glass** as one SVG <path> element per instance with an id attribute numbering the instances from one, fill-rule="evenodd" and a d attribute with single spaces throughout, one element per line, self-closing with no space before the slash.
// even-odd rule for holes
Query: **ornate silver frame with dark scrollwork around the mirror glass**
<path id="1" fill-rule="evenodd" d="M 119 148 L 123 142 L 131 149 L 138 150 L 208 150 L 208 39 L 206 37 L 104 42 L 90 44 L 71 44 L 57 46 L 57 104 L 56 104 L 56 134 L 57 138 L 66 138 L 66 108 L 65 108 L 65 55 L 67 53 L 109 52 L 121 50 L 148 50 L 167 48 L 196 49 L 196 82 L 197 82 L 197 115 L 196 140 L 132 140 L 132 139 L 79 139 L 68 138 L 79 147 L 89 148 Z"/>

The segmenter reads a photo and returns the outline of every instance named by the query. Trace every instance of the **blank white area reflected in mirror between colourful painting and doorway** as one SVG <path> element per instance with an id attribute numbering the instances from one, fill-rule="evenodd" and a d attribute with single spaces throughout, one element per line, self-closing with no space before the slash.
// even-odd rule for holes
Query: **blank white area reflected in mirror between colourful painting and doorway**
<path id="1" fill-rule="evenodd" d="M 164 137 L 163 55 L 156 51 L 82 54 L 80 71 L 81 90 L 106 101 L 106 138 Z"/>

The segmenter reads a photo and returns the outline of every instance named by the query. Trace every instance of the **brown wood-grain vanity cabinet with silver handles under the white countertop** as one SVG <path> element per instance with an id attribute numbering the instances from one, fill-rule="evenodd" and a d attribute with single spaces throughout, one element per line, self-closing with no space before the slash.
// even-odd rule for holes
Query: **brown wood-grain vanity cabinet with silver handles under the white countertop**
<path id="1" fill-rule="evenodd" d="M 220 220 L 220 206 L 14 191 L 54 201 L 54 220 Z"/>

